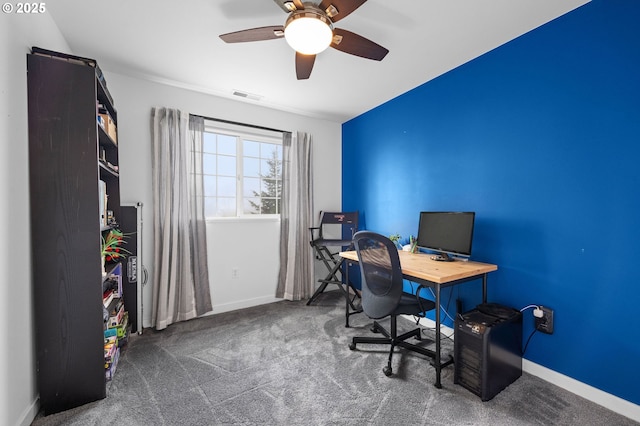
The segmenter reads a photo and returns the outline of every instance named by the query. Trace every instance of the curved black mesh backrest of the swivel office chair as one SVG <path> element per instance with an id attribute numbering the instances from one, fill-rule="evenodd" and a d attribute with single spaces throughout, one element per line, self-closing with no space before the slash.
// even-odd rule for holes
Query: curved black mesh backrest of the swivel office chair
<path id="1" fill-rule="evenodd" d="M 402 297 L 398 249 L 389 238 L 370 231 L 356 232 L 353 242 L 362 272 L 362 310 L 369 318 L 384 318 Z"/>

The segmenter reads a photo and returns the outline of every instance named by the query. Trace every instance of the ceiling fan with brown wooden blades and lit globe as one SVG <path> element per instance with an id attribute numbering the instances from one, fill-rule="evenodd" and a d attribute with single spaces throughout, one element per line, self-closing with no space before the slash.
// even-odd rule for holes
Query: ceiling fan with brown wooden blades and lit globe
<path id="1" fill-rule="evenodd" d="M 222 34 L 227 43 L 243 43 L 285 38 L 296 51 L 296 76 L 305 80 L 311 75 L 316 54 L 331 46 L 351 55 L 381 61 L 389 50 L 351 31 L 333 24 L 349 16 L 367 0 L 273 0 L 289 14 L 284 25 L 251 28 Z"/>

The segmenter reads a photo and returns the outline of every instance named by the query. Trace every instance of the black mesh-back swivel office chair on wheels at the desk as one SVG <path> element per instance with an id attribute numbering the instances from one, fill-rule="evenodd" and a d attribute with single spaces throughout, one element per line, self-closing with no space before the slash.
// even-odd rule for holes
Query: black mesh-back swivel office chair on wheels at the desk
<path id="1" fill-rule="evenodd" d="M 374 320 L 391 317 L 391 329 L 387 331 L 374 321 L 371 331 L 385 337 L 354 337 L 349 349 L 355 350 L 359 343 L 391 345 L 389 362 L 382 369 L 386 376 L 393 374 L 391 359 L 396 346 L 435 357 L 434 351 L 405 341 L 410 337 L 422 340 L 419 328 L 397 335 L 398 315 L 423 316 L 435 308 L 433 301 L 403 292 L 398 248 L 387 237 L 369 231 L 357 232 L 353 241 L 362 272 L 362 310 Z"/>

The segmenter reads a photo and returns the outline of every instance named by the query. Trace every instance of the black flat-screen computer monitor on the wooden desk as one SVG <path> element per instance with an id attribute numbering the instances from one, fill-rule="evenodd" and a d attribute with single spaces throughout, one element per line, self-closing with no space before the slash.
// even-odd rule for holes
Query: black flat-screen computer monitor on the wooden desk
<path id="1" fill-rule="evenodd" d="M 475 212 L 420 212 L 417 245 L 438 253 L 434 260 L 450 262 L 450 255 L 471 256 Z"/>

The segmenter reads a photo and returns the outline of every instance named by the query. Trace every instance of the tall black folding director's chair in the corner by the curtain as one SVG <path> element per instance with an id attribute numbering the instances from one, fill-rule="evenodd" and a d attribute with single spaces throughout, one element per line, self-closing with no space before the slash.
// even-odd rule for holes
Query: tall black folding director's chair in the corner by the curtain
<path id="1" fill-rule="evenodd" d="M 313 301 L 327 288 L 329 284 L 336 284 L 342 290 L 351 309 L 357 310 L 354 300 L 357 292 L 354 291 L 353 298 L 350 298 L 349 291 L 344 286 L 353 285 L 343 283 L 342 258 L 338 255 L 340 251 L 353 250 L 353 235 L 358 230 L 358 212 L 320 212 L 320 223 L 318 226 L 309 228 L 311 233 L 310 244 L 315 252 L 316 259 L 322 260 L 327 268 L 327 276 L 318 280 L 320 287 L 313 293 L 307 301 L 307 305 Z M 339 276 L 338 276 L 339 275 Z M 355 288 L 354 288 L 355 290 Z"/>

